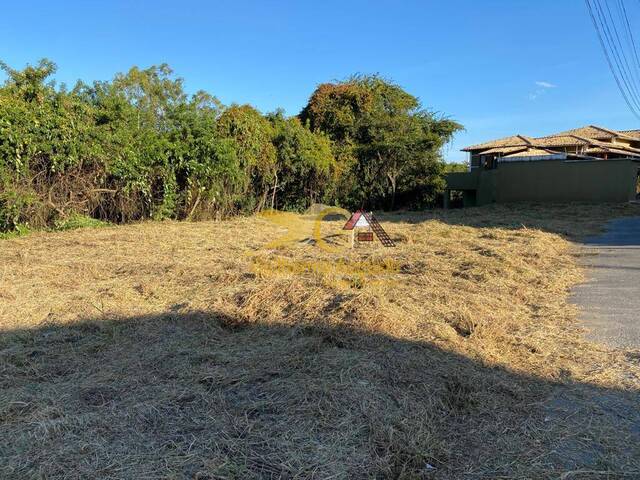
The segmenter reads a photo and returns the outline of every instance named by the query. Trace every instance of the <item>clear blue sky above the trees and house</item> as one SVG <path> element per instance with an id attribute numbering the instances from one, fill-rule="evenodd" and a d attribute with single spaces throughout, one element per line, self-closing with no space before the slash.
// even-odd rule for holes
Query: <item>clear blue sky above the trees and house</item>
<path id="1" fill-rule="evenodd" d="M 628 2 L 640 26 L 640 2 Z M 461 122 L 445 149 L 585 124 L 640 128 L 583 0 L 7 2 L 0 58 L 70 85 L 166 62 L 188 91 L 296 114 L 317 84 L 379 73 Z"/>

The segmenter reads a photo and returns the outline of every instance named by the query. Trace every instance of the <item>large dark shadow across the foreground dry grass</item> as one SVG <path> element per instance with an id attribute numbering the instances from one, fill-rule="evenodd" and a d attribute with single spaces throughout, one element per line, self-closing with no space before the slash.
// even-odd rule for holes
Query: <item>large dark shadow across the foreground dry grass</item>
<path id="1" fill-rule="evenodd" d="M 638 392 L 180 309 L 0 334 L 0 476 L 640 475 Z"/>

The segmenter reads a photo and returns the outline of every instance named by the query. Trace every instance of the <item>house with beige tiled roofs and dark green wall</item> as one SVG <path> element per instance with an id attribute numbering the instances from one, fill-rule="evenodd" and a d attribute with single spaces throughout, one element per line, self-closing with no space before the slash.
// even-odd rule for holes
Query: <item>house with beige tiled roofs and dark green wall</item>
<path id="1" fill-rule="evenodd" d="M 513 135 L 471 145 L 469 172 L 446 177 L 464 205 L 516 201 L 621 202 L 638 195 L 640 130 L 588 125 L 544 137 Z"/>

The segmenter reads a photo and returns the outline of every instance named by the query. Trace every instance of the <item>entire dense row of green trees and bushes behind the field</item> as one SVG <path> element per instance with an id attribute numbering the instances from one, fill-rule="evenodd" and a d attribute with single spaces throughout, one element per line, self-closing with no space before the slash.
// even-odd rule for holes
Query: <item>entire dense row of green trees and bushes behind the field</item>
<path id="1" fill-rule="evenodd" d="M 299 116 L 187 95 L 166 65 L 73 89 L 0 64 L 0 230 L 71 215 L 216 218 L 312 202 L 422 207 L 457 123 L 377 76 L 320 85 Z"/>

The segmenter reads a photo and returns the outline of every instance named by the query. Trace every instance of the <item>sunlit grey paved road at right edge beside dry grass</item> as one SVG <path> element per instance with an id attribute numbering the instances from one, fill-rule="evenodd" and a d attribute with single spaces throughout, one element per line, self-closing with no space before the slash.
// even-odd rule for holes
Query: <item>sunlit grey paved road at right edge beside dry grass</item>
<path id="1" fill-rule="evenodd" d="M 640 217 L 613 220 L 605 233 L 588 238 L 583 264 L 589 280 L 573 301 L 592 340 L 640 348 Z"/>

